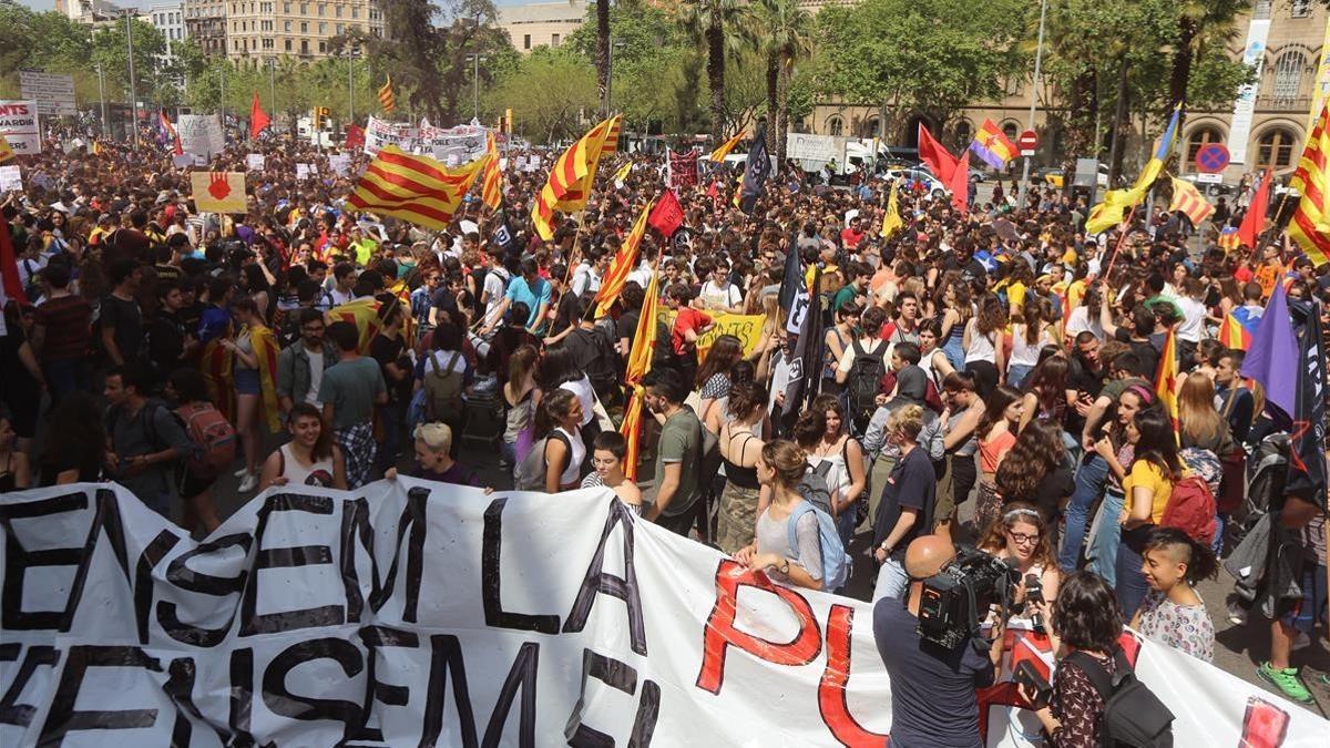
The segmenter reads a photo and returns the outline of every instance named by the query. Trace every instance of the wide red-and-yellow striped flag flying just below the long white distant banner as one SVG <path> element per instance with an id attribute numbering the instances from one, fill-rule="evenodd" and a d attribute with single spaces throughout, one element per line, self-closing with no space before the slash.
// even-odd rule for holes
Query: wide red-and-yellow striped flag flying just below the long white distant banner
<path id="1" fill-rule="evenodd" d="M 447 229 L 488 160 L 485 154 L 450 169 L 427 156 L 388 145 L 370 162 L 347 204 L 427 229 Z"/>

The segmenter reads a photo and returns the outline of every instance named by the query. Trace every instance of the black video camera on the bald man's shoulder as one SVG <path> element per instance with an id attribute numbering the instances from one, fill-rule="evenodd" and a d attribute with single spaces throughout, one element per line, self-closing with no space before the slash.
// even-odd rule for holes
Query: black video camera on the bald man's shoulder
<path id="1" fill-rule="evenodd" d="M 971 546 L 958 546 L 956 558 L 923 580 L 919 636 L 955 650 L 979 631 L 994 603 L 1007 608 L 1020 572 L 1001 559 Z"/>

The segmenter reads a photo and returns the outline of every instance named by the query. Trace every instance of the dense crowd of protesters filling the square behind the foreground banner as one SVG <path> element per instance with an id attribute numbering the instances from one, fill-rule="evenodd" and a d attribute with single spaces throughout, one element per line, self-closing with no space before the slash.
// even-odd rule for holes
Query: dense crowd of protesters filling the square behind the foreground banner
<path id="1" fill-rule="evenodd" d="M 338 174 L 307 146 L 237 144 L 209 168 L 245 170 L 251 150 L 265 168 L 246 176 L 247 212 L 218 216 L 194 209 L 169 154 L 97 150 L 48 148 L 3 198 L 27 302 L 4 307 L 0 491 L 116 480 L 200 536 L 223 519 L 210 492 L 227 471 L 245 495 L 399 474 L 605 486 L 777 582 L 829 588 L 811 503 L 846 547 L 871 538 L 875 598 L 906 594 L 915 539 L 968 539 L 1040 579 L 1055 624 L 1064 575 L 1085 568 L 1068 604 L 1107 590 L 1119 624 L 1210 659 L 1196 583 L 1241 539 L 1222 498 L 1242 503 L 1249 455 L 1283 429 L 1218 327 L 1258 317 L 1281 282 L 1330 306 L 1330 266 L 1277 237 L 1224 250 L 1162 210 L 1087 236 L 1084 202 L 1049 189 L 1016 205 L 1012 185 L 962 214 L 907 184 L 904 225 L 883 237 L 890 178 L 830 188 L 782 169 L 749 213 L 709 174 L 681 188 L 682 228 L 645 237 L 597 315 L 662 188 L 658 158 L 616 157 L 636 161 L 618 185 L 622 161 L 602 164 L 580 225 L 541 241 L 527 218 L 541 170 L 508 170 L 501 213 L 469 196 L 428 232 L 344 205 L 360 154 Z M 297 180 L 298 161 L 315 176 Z M 815 281 L 823 319 L 817 397 L 793 414 L 790 268 Z M 652 371 L 625 393 L 653 272 Z M 759 317 L 757 334 L 714 334 L 735 313 Z M 1170 331 L 1176 423 L 1156 387 Z M 654 417 L 638 482 L 618 434 L 629 397 Z M 497 449 L 464 454 L 480 411 L 499 414 Z M 1193 478 L 1221 498 L 1213 536 L 1161 527 Z M 1260 673 L 1307 700 L 1291 652 L 1325 635 L 1325 502 L 1267 499 L 1305 563 L 1301 596 L 1250 611 L 1270 626 Z"/>

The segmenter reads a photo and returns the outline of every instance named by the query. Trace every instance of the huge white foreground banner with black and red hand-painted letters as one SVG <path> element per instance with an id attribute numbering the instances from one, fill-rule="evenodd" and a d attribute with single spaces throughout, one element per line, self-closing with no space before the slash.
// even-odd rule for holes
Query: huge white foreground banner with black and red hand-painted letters
<path id="1" fill-rule="evenodd" d="M 859 747 L 891 725 L 871 606 L 773 586 L 605 488 L 273 488 L 196 543 L 85 483 L 0 495 L 0 526 L 5 747 Z M 1188 655 L 1129 651 L 1180 747 L 1330 735 Z M 1048 652 L 1013 634 L 1009 659 Z M 988 739 L 1020 745 L 1003 688 Z"/>

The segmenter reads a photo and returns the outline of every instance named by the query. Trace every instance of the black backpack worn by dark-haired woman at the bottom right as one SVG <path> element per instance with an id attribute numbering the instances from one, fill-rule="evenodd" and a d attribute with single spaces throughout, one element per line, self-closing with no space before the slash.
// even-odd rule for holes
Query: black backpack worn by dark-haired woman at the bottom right
<path id="1" fill-rule="evenodd" d="M 1104 748 L 1172 748 L 1173 712 L 1144 683 L 1137 680 L 1121 647 L 1113 652 L 1117 675 L 1085 652 L 1072 652 L 1064 663 L 1076 663 L 1104 699 L 1095 744 Z"/>

